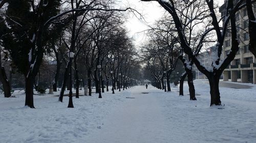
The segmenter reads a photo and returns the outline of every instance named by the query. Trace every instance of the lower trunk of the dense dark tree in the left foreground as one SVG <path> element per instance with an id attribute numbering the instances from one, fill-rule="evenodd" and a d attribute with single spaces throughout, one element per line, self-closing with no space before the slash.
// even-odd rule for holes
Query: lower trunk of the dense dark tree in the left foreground
<path id="1" fill-rule="evenodd" d="M 34 87 L 34 78 L 29 74 L 28 76 L 25 75 L 25 88 L 26 88 L 26 98 L 25 98 L 25 106 L 29 106 L 30 108 L 34 107 L 34 100 L 33 100 L 33 87 Z"/>

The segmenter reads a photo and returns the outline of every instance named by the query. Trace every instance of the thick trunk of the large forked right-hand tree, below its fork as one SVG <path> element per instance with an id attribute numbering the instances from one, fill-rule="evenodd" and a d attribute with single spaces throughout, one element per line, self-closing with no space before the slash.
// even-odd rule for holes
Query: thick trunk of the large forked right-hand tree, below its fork
<path id="1" fill-rule="evenodd" d="M 210 84 L 210 106 L 221 105 L 221 97 L 219 91 L 220 77 L 210 73 L 208 80 Z"/>

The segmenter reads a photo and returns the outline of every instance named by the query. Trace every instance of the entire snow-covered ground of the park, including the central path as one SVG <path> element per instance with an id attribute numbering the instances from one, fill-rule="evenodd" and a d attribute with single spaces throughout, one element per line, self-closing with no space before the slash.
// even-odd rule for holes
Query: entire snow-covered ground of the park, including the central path
<path id="1" fill-rule="evenodd" d="M 207 80 L 195 80 L 197 101 L 178 87 L 165 93 L 149 86 L 73 98 L 67 108 L 53 95 L 35 95 L 36 109 L 24 107 L 25 96 L 0 95 L 1 142 L 255 142 L 256 86 L 220 88 L 222 108 L 209 107 Z M 83 91 L 81 91 L 82 93 Z M 128 98 L 127 98 L 128 97 Z M 224 106 L 225 105 L 225 106 Z"/>

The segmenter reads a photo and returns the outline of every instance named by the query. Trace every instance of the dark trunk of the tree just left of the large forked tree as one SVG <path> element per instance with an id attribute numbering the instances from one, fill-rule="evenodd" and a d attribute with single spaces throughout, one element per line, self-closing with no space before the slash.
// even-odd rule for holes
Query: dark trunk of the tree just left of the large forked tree
<path id="1" fill-rule="evenodd" d="M 190 100 L 197 100 L 194 82 L 193 82 L 192 69 L 186 69 L 186 73 L 187 73 L 187 84 L 188 84 L 188 89 L 189 89 Z"/>

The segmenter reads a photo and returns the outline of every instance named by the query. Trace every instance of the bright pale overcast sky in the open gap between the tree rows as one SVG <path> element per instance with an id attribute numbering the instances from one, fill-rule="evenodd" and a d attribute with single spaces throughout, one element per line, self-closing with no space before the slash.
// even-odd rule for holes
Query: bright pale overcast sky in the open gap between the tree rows
<path id="1" fill-rule="evenodd" d="M 219 5 L 223 4 L 224 0 L 217 0 Z M 143 15 L 145 22 L 141 22 L 135 15 L 130 14 L 130 18 L 125 22 L 125 26 L 131 37 L 135 39 L 135 45 L 140 46 L 145 40 L 142 31 L 147 30 L 146 24 L 152 25 L 165 12 L 158 2 L 141 2 L 140 0 L 120 0 L 122 7 L 131 7 L 136 9 Z M 139 15 L 138 15 L 139 16 Z M 142 33 L 140 33 L 142 32 Z"/>

